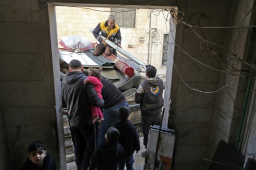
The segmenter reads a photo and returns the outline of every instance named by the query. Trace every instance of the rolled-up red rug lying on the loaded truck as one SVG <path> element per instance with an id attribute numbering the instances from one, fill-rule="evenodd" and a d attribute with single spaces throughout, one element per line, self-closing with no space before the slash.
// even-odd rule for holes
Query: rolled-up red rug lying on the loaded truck
<path id="1" fill-rule="evenodd" d="M 127 75 L 128 77 L 132 77 L 134 75 L 134 69 L 126 64 L 124 61 L 117 59 L 115 55 L 111 54 L 105 57 L 109 60 L 114 61 L 116 68 L 120 70 L 124 75 Z"/>

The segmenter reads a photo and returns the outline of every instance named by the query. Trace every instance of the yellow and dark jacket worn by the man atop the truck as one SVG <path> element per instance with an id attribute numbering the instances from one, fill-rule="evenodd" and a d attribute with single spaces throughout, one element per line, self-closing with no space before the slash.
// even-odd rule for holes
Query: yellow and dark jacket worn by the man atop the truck
<path id="1" fill-rule="evenodd" d="M 99 32 L 101 31 L 101 35 L 109 39 L 114 43 L 121 44 L 121 32 L 119 26 L 115 23 L 112 28 L 109 29 L 107 25 L 107 21 L 99 22 L 97 26 L 92 31 L 94 37 L 101 43 L 102 38 L 98 36 Z"/>

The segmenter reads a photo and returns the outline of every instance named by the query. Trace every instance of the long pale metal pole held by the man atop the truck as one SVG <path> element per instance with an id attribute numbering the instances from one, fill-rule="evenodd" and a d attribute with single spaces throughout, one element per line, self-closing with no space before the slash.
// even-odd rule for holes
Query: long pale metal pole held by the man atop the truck
<path id="1" fill-rule="evenodd" d="M 93 30 L 90 29 L 90 32 L 92 32 Z M 107 45 L 109 45 L 110 47 L 112 47 L 113 49 L 115 49 L 116 51 L 120 52 L 121 54 L 123 54 L 125 57 L 127 57 L 128 59 L 130 59 L 131 61 L 134 61 L 136 64 L 138 65 L 142 65 L 145 66 L 146 64 L 143 63 L 142 61 L 140 61 L 139 59 L 137 59 L 136 57 L 134 57 L 133 55 L 131 55 L 130 53 L 128 53 L 127 51 L 125 51 L 124 49 L 120 48 L 118 45 L 114 44 L 112 41 L 110 41 L 109 39 L 106 39 L 106 37 L 104 37 L 103 35 L 101 35 L 100 33 L 98 34 L 100 36 L 100 38 L 103 38 L 105 40 L 105 43 Z"/>

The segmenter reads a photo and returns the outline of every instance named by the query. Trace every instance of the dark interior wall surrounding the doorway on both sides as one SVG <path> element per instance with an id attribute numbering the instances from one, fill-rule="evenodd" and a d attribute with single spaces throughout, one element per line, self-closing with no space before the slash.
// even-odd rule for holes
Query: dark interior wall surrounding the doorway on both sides
<path id="1" fill-rule="evenodd" d="M 51 1 L 82 2 L 82 0 Z M 233 3 L 232 0 L 206 2 L 205 0 L 178 0 L 175 3 L 157 0 L 139 3 L 142 1 L 137 0 L 137 4 L 130 1 L 122 1 L 122 3 L 138 8 L 148 7 L 141 4 L 152 5 L 154 8 L 178 6 L 179 10 L 185 13 L 184 20 L 201 26 L 208 26 L 209 20 L 214 26 L 226 26 L 228 23 L 237 25 L 252 4 L 252 0 L 238 0 L 237 3 Z M 102 4 L 119 4 L 120 1 L 88 0 L 86 3 L 93 3 L 92 6 L 98 3 L 102 6 Z M 0 8 L 0 37 L 4 40 L 0 41 L 1 69 L 4 70 L 4 74 L 0 75 L 0 106 L 7 151 L 10 160 L 16 161 L 8 169 L 16 170 L 25 159 L 27 145 L 33 140 L 44 141 L 49 153 L 58 160 L 54 108 L 58 100 L 54 97 L 58 86 L 54 87 L 56 81 L 53 80 L 53 72 L 56 68 L 52 67 L 52 62 L 56 59 L 52 59 L 51 56 L 49 18 L 47 5 L 43 0 L 40 3 L 37 0 L 22 2 L 0 0 Z M 202 13 L 206 17 L 201 16 Z M 229 18 L 226 17 L 228 15 L 230 15 Z M 233 22 L 228 22 L 228 19 Z M 246 19 L 244 25 L 248 23 Z M 237 35 L 236 29 L 233 31 L 210 29 L 210 32 L 209 29 L 195 30 L 203 35 L 203 38 L 225 45 L 230 50 Z M 246 53 L 245 44 L 248 35 L 247 29 L 240 29 L 240 36 L 234 49 L 241 57 Z M 192 29 L 182 23 L 177 24 L 176 43 L 195 59 L 222 69 L 222 62 L 219 62 L 217 57 L 222 54 L 222 50 L 199 41 Z M 191 60 L 177 47 L 174 49 L 174 63 L 183 80 L 193 88 L 214 91 L 230 81 L 230 76 L 220 74 Z M 240 67 L 240 64 L 235 61 L 232 64 L 237 68 Z M 228 141 L 233 137 L 230 132 L 235 129 L 234 105 L 224 90 L 217 94 L 199 93 L 187 88 L 175 70 L 172 77 L 171 109 L 174 114 L 171 115 L 173 119 L 170 126 L 177 130 L 174 169 L 204 170 L 205 163 L 201 158 L 210 158 L 210 153 L 213 153 L 215 143 L 219 139 Z M 237 97 L 243 89 L 242 85 L 239 88 L 241 82 L 239 79 L 234 79 L 234 84 L 228 86 L 229 93 L 235 98 L 235 104 L 238 103 L 238 99 L 239 101 L 242 99 Z M 4 137 L 3 133 L 1 137 Z M 3 146 L 4 142 L 0 145 Z"/>

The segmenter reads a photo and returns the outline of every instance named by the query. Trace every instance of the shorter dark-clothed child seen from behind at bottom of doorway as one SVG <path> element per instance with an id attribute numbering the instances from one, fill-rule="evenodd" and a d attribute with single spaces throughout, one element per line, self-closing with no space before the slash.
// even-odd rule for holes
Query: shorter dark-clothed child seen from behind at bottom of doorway
<path id="1" fill-rule="evenodd" d="M 117 142 L 118 137 L 119 131 L 114 127 L 106 130 L 106 143 L 94 152 L 87 170 L 117 170 L 117 164 L 123 158 L 123 148 Z"/>

